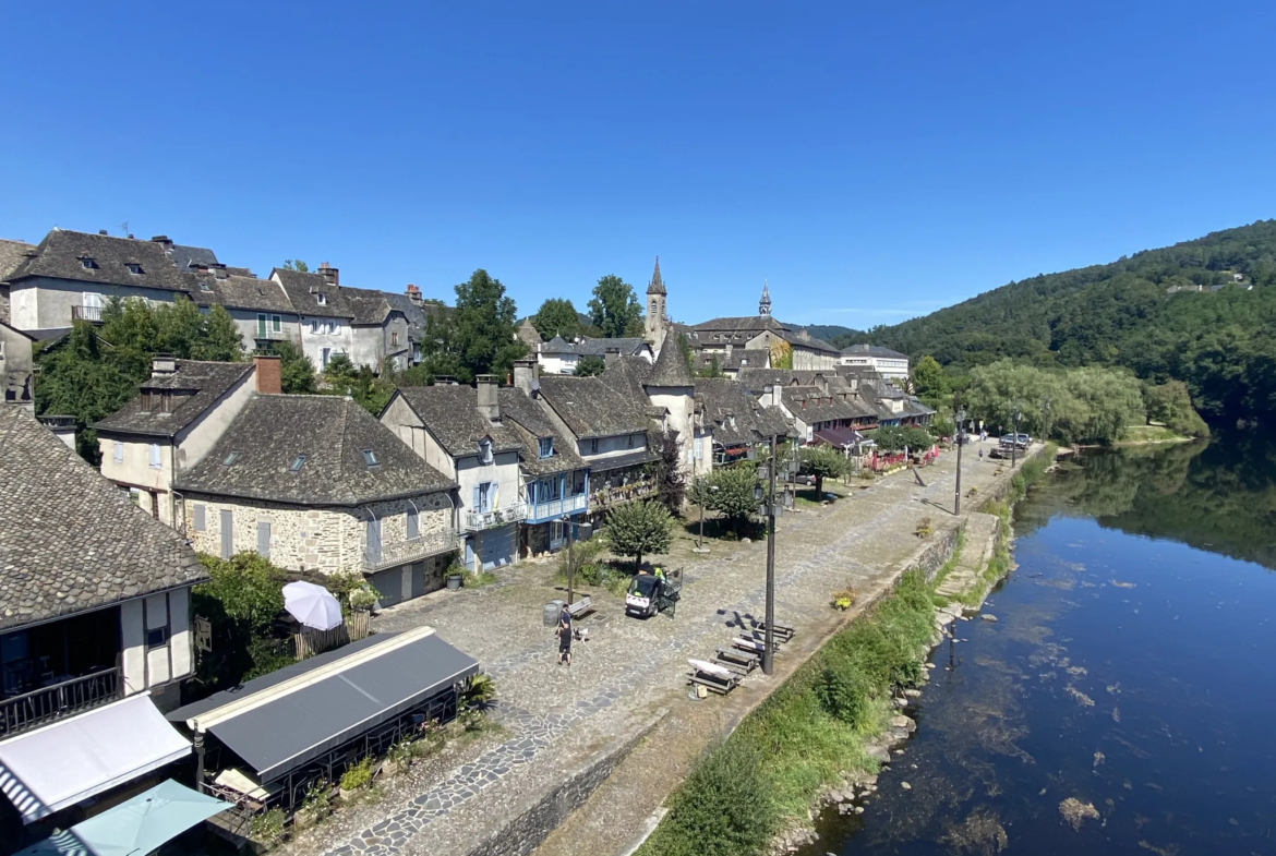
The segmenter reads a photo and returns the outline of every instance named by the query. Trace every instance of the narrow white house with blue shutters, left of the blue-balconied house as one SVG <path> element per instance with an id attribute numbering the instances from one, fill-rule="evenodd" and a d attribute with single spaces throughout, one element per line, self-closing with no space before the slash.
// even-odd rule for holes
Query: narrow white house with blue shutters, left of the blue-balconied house
<path id="1" fill-rule="evenodd" d="M 476 387 L 401 387 L 380 421 L 457 482 L 466 566 L 514 564 L 527 514 L 518 466 L 522 439 L 504 421 L 496 378 L 480 375 Z"/>

